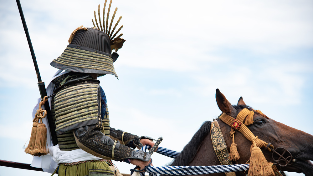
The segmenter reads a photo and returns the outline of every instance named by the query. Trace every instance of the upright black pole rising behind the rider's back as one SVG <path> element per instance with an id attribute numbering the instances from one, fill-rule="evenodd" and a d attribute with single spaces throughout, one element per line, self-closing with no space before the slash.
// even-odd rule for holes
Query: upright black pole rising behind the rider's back
<path id="1" fill-rule="evenodd" d="M 34 48 L 32 45 L 32 41 L 30 40 L 30 36 L 28 33 L 28 28 L 26 25 L 26 20 L 24 18 L 21 3 L 19 0 L 16 0 L 16 3 L 18 4 L 18 11 L 19 11 L 21 19 L 22 19 L 22 23 L 23 23 L 24 31 L 25 31 L 26 38 L 28 41 L 30 53 L 32 54 L 32 58 L 33 58 L 33 62 L 34 62 L 34 66 L 35 66 L 35 70 L 36 70 L 36 74 L 37 74 L 37 79 L 38 79 L 38 88 L 39 88 L 40 96 L 41 96 L 41 99 L 44 99 L 44 97 L 47 96 L 46 87 L 44 86 L 44 82 L 41 81 Z M 56 145 L 56 144 L 58 144 L 58 139 L 57 139 L 57 134 L 55 133 L 55 129 L 54 129 L 54 123 L 53 123 L 53 119 L 52 119 L 52 115 L 51 115 L 51 111 L 50 111 L 49 102 L 44 103 L 44 108 L 47 111 L 47 118 L 48 118 L 52 142 L 53 142 L 53 145 Z"/>

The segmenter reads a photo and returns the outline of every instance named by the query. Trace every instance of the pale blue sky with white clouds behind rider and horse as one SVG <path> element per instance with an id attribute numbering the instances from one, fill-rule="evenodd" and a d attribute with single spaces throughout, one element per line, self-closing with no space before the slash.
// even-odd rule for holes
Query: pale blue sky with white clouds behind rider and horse
<path id="1" fill-rule="evenodd" d="M 40 96 L 16 2 L 0 0 L 0 159 L 31 163 L 23 146 Z M 77 27 L 104 1 L 21 0 L 42 80 Z M 204 121 L 221 111 L 217 88 L 269 118 L 313 134 L 313 2 L 114 0 L 122 38 L 113 75 L 100 77 L 111 127 L 163 137 L 181 151 Z M 101 11 L 102 12 L 102 11 Z M 153 165 L 171 158 L 153 154 Z M 115 162 L 121 173 L 133 168 Z M 50 175 L 0 166 L 0 176 Z M 288 176 L 302 176 L 286 173 Z"/>

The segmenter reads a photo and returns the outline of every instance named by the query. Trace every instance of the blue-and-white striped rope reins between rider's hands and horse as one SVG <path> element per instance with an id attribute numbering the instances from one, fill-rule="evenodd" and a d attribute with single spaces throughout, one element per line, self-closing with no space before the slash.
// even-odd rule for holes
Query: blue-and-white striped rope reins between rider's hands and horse
<path id="1" fill-rule="evenodd" d="M 143 146 L 141 150 L 146 151 L 150 146 Z M 159 147 L 156 153 L 176 158 L 179 152 Z M 149 166 L 146 168 L 146 172 L 149 176 L 156 176 L 156 174 L 167 175 L 201 175 L 209 173 L 226 173 L 226 172 L 238 172 L 245 171 L 249 168 L 249 164 L 233 164 L 233 165 L 218 165 L 218 166 Z M 141 176 L 144 176 L 144 172 L 140 172 Z"/>

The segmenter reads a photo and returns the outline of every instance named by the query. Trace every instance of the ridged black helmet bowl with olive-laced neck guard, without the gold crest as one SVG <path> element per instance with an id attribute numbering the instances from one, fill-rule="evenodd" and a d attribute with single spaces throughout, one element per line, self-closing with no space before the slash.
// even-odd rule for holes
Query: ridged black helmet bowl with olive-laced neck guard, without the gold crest
<path id="1" fill-rule="evenodd" d="M 118 54 L 111 54 L 110 38 L 95 28 L 79 27 L 73 31 L 69 45 L 50 65 L 72 72 L 116 75 L 113 62 Z"/>

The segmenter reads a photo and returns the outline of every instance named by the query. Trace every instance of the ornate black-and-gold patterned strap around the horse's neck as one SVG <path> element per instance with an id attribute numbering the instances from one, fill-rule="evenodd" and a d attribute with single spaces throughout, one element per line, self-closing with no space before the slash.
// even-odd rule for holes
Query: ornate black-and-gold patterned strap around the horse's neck
<path id="1" fill-rule="evenodd" d="M 232 162 L 229 159 L 229 153 L 227 150 L 227 146 L 223 137 L 223 134 L 221 132 L 221 129 L 219 128 L 218 121 L 214 120 L 211 123 L 211 139 L 213 143 L 213 148 L 216 153 L 216 156 L 218 157 L 220 163 L 222 165 L 231 165 Z M 225 173 L 227 176 L 236 176 L 235 172 L 228 172 Z"/>

